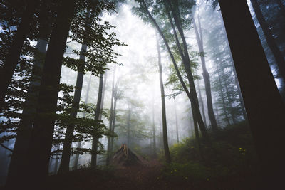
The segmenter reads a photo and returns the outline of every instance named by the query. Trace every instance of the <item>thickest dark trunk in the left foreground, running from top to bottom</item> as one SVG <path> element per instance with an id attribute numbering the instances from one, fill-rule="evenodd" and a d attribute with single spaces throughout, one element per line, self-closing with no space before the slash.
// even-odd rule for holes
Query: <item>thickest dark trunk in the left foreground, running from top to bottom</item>
<path id="1" fill-rule="evenodd" d="M 61 11 L 58 11 L 56 23 L 53 26 L 43 66 L 41 90 L 38 97 L 38 117 L 35 119 L 28 147 L 29 170 L 26 174 L 28 177 L 26 182 L 33 179 L 34 186 L 42 184 L 48 174 L 48 159 L 53 141 L 61 65 L 75 6 L 75 0 L 63 0 L 61 6 L 58 7 L 58 10 Z"/>

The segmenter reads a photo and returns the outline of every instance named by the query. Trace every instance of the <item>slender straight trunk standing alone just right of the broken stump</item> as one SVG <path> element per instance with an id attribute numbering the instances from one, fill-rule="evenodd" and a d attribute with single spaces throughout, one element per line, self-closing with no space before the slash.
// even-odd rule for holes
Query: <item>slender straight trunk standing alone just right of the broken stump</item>
<path id="1" fill-rule="evenodd" d="M 167 122 L 166 122 L 166 111 L 165 111 L 165 89 L 163 87 L 162 80 L 162 65 L 161 65 L 161 57 L 160 57 L 160 45 L 157 38 L 157 54 L 158 54 L 158 67 L 160 69 L 160 93 L 161 93 L 161 109 L 162 109 L 162 132 L 163 132 L 163 147 L 165 150 L 165 159 L 166 162 L 170 163 L 170 151 L 168 147 L 167 140 Z"/>

